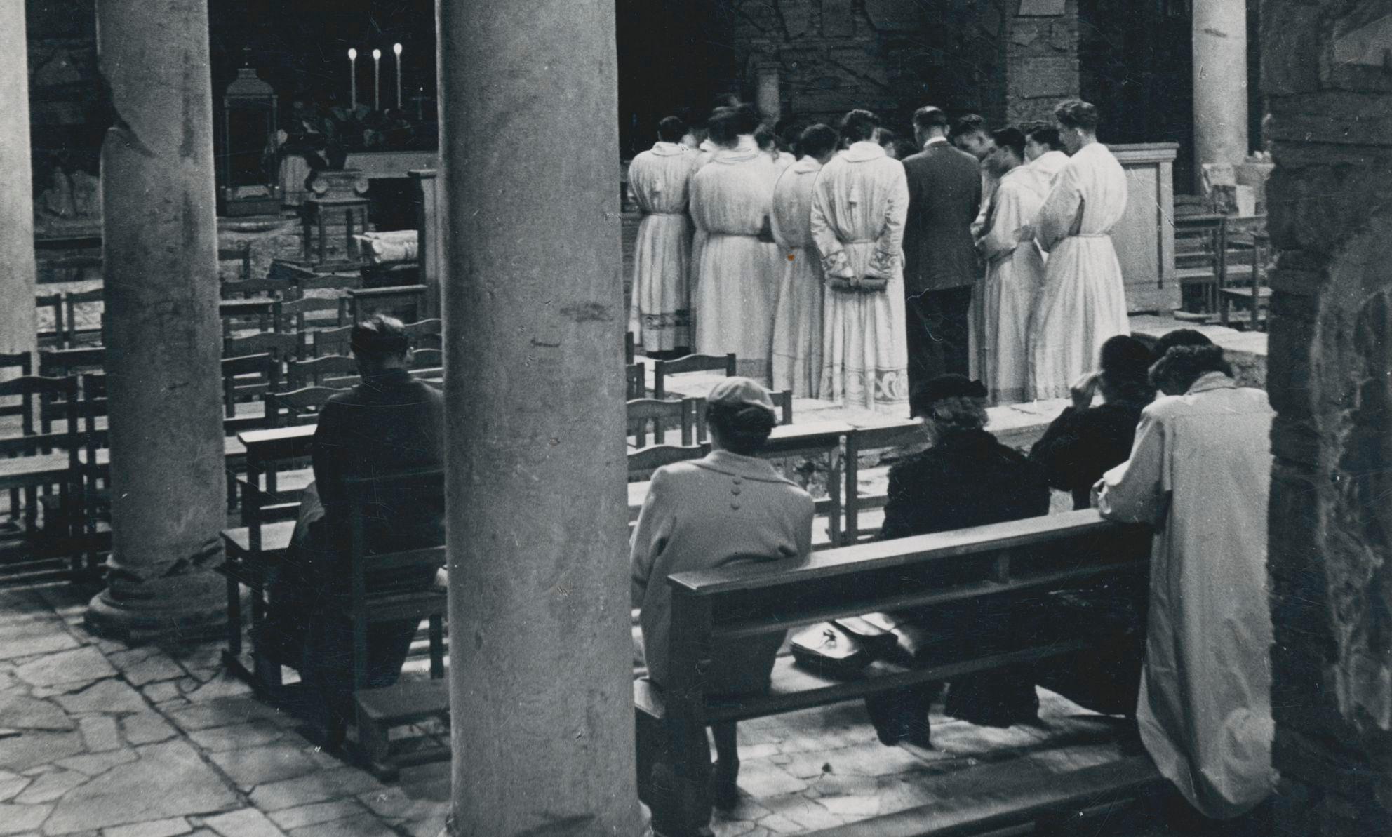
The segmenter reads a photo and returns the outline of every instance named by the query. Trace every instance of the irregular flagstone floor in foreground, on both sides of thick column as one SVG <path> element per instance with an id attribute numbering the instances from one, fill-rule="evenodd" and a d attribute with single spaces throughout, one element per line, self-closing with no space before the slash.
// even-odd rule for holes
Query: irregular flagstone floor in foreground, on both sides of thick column
<path id="1" fill-rule="evenodd" d="M 0 834 L 436 837 L 447 763 L 381 784 L 228 677 L 216 643 L 127 648 L 86 632 L 70 585 L 0 589 Z M 718 837 L 796 834 L 1006 790 L 1119 758 L 1118 721 L 1041 692 L 1040 723 L 934 717 L 934 748 L 878 744 L 859 703 L 739 727 L 741 805 Z"/>

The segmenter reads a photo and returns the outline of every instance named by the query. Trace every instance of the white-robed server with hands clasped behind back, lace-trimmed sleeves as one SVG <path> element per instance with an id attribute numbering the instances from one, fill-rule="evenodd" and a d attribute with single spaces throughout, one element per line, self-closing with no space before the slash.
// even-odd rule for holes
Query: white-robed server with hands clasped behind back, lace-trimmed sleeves
<path id="1" fill-rule="evenodd" d="M 849 143 L 817 175 L 812 237 L 827 276 L 821 393 L 830 401 L 903 415 L 909 355 L 903 320 L 903 163 L 876 142 L 878 118 L 852 110 Z"/>

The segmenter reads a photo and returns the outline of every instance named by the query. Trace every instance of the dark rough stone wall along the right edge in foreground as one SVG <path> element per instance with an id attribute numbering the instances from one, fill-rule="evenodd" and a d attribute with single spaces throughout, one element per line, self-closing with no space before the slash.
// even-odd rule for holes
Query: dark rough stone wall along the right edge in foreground
<path id="1" fill-rule="evenodd" d="M 1267 0 L 1274 762 L 1292 834 L 1392 833 L 1392 21 Z"/>

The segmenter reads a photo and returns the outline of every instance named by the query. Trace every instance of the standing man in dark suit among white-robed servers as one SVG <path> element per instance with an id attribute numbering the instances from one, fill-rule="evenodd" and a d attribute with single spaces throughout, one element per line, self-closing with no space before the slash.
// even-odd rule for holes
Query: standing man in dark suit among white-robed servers
<path id="1" fill-rule="evenodd" d="M 903 234 L 910 391 L 938 375 L 967 373 L 967 312 L 977 277 L 972 221 L 981 206 L 976 157 L 952 148 L 937 107 L 913 114 L 923 150 L 903 162 L 909 219 Z"/>

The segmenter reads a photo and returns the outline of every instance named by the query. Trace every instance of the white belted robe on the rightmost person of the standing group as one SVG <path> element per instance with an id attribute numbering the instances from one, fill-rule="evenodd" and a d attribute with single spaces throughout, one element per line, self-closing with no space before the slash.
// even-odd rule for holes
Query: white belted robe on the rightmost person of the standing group
<path id="1" fill-rule="evenodd" d="M 1097 365 L 1108 338 L 1130 334 L 1122 267 L 1108 234 L 1126 212 L 1126 173 L 1100 142 L 1069 159 L 1034 223 L 1048 251 L 1030 327 L 1034 398 L 1062 398 Z"/>

